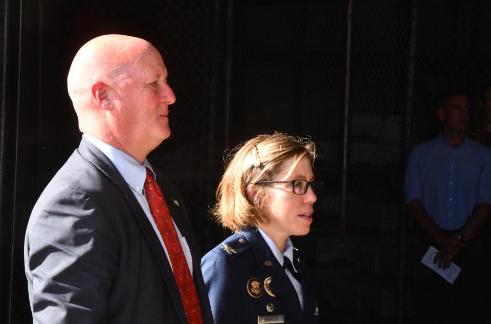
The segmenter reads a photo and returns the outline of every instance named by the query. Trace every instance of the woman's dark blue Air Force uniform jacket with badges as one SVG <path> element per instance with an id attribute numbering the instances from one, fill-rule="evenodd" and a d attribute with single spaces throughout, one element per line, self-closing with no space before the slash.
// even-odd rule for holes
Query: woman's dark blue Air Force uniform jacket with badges
<path id="1" fill-rule="evenodd" d="M 215 324 L 279 323 L 282 318 L 284 323 L 318 323 L 314 282 L 295 254 L 303 311 L 285 270 L 257 230 L 233 234 L 208 252 L 201 268 Z"/>

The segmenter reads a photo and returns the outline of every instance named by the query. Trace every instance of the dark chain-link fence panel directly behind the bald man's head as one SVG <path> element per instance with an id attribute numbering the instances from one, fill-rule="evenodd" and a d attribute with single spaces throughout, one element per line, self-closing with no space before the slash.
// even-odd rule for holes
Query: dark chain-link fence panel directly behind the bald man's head
<path id="1" fill-rule="evenodd" d="M 42 188 L 64 162 L 80 135 L 64 78 L 76 51 L 87 40 L 108 33 L 129 34 L 149 40 L 161 53 L 176 103 L 170 106 L 172 136 L 149 156 L 152 165 L 166 172 L 183 193 L 198 241 L 209 247 L 216 230 L 208 214 L 221 174 L 225 149 L 224 111 L 225 7 L 222 1 L 106 1 L 43 2 L 41 26 L 40 170 Z M 61 109 L 63 107 L 63 109 Z M 59 120 L 69 125 L 57 126 Z M 66 132 L 70 129 L 70 132 Z M 60 141 L 60 139 L 62 139 Z M 57 161 L 45 161 L 46 154 Z M 46 164 L 46 165 L 43 165 Z M 212 232 L 209 232 L 209 231 Z M 213 241 L 214 242 L 214 241 Z"/>

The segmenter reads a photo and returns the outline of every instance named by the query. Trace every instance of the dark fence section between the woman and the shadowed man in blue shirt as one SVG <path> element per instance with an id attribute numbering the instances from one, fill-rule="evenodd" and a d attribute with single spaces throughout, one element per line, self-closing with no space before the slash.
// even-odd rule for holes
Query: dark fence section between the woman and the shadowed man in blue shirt
<path id="1" fill-rule="evenodd" d="M 311 136 L 318 145 L 326 190 L 310 236 L 296 244 L 315 269 L 325 322 L 397 315 L 409 5 L 352 8 L 346 237 L 340 237 L 340 172 L 347 3 L 236 2 L 234 11 L 236 141 L 277 130 Z"/>

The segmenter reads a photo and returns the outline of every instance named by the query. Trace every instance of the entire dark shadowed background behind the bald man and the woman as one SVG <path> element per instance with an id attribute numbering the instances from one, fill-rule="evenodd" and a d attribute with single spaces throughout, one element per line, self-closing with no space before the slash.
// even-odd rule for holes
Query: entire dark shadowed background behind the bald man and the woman
<path id="1" fill-rule="evenodd" d="M 309 136 L 326 189 L 311 233 L 294 242 L 315 273 L 321 322 L 411 322 L 405 161 L 437 134 L 443 87 L 477 99 L 491 81 L 491 2 L 4 0 L 0 10 L 0 322 L 32 322 L 25 228 L 81 138 L 71 60 L 107 33 L 162 53 L 177 101 L 172 135 L 148 159 L 181 191 L 203 253 L 230 234 L 208 213 L 224 152 L 260 133 Z"/>

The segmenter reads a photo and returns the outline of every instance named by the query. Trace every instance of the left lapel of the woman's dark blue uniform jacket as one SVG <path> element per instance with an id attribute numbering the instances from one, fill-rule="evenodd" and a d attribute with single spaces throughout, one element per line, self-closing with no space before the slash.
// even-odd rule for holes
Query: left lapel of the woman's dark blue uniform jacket
<path id="1" fill-rule="evenodd" d="M 279 303 L 283 306 L 283 309 L 293 318 L 295 323 L 304 323 L 297 291 L 270 247 L 264 242 L 261 233 L 252 230 L 243 234 L 251 243 L 251 248 L 256 257 L 259 269 L 272 277 L 272 291 L 276 295 L 276 298 L 278 298 Z M 271 261 L 273 266 L 266 266 L 265 261 Z"/>

